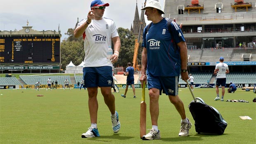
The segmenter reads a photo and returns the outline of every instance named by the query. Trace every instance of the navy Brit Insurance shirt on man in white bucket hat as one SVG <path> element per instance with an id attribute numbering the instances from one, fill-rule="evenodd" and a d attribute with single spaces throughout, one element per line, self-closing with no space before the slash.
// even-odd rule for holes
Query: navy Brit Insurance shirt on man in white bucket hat
<path id="1" fill-rule="evenodd" d="M 147 49 L 147 73 L 153 76 L 179 76 L 180 53 L 175 50 L 176 44 L 185 42 L 180 27 L 174 21 L 171 22 L 173 39 L 167 28 L 168 19 L 164 18 L 159 23 L 152 23 L 147 34 L 143 30 L 142 47 Z"/>

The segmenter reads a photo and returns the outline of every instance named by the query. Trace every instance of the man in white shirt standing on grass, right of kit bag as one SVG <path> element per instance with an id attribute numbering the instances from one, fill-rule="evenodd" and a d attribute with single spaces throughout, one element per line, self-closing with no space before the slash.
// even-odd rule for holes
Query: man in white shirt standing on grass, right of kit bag
<path id="1" fill-rule="evenodd" d="M 225 94 L 225 85 L 226 85 L 226 74 L 229 73 L 228 65 L 223 63 L 224 58 L 220 57 L 219 59 L 220 63 L 217 63 L 215 66 L 214 74 L 217 74 L 216 76 L 216 94 L 217 97 L 214 100 L 220 100 L 219 96 L 219 86 L 221 86 L 221 101 L 224 101 L 224 94 Z"/>

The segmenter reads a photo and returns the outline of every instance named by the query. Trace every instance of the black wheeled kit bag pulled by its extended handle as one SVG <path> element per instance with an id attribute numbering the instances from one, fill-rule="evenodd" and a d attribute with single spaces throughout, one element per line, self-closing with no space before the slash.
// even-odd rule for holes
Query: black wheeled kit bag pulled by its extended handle
<path id="1" fill-rule="evenodd" d="M 187 81 L 186 81 L 187 82 Z M 187 82 L 189 87 L 189 84 Z M 223 119 L 217 109 L 204 103 L 201 98 L 194 98 L 194 94 L 189 87 L 193 101 L 188 106 L 194 119 L 197 133 L 209 133 L 222 135 L 228 123 Z"/>

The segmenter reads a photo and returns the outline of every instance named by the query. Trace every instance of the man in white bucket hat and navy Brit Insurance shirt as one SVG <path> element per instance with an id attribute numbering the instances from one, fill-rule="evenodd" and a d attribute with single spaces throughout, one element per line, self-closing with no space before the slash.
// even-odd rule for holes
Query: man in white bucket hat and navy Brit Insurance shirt
<path id="1" fill-rule="evenodd" d="M 152 21 L 152 24 L 147 33 L 145 30 L 148 26 L 143 31 L 140 81 L 141 84 L 148 82 L 152 129 L 147 135 L 142 136 L 142 140 L 161 138 L 157 121 L 159 117 L 158 101 L 162 92 L 168 95 L 170 102 L 181 116 L 179 136 L 187 136 L 192 124 L 187 119 L 184 104 L 178 96 L 180 72 L 184 81 L 189 79 L 185 38 L 180 27 L 174 21 L 171 22 L 170 28 L 172 34 L 169 33 L 168 19 L 162 17 L 164 12 L 161 10 L 159 2 L 149 0 L 143 9 L 145 9 L 147 20 Z M 178 45 L 178 49 L 174 42 Z"/>

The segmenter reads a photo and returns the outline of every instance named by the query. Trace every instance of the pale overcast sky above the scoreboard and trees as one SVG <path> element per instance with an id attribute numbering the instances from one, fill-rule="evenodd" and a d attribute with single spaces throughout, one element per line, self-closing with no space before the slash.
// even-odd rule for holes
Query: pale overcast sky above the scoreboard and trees
<path id="1" fill-rule="evenodd" d="M 61 30 L 62 38 L 68 28 L 74 28 L 79 21 L 87 17 L 92 0 L 1 0 L 0 30 L 21 30 L 22 26 L 33 26 L 32 29 Z M 103 0 L 109 3 L 104 16 L 113 19 L 117 28 L 129 28 L 133 23 L 136 0 Z M 148 1 L 148 0 L 147 0 Z M 145 0 L 137 0 L 139 9 Z M 162 8 L 164 0 L 159 0 Z M 149 22 L 147 22 L 149 23 Z"/>

